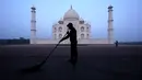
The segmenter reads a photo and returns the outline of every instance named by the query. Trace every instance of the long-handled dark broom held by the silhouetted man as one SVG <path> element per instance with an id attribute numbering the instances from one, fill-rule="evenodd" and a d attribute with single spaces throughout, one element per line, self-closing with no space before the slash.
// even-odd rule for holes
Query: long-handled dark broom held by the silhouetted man
<path id="1" fill-rule="evenodd" d="M 67 35 L 67 34 L 66 34 Z M 64 35 L 64 36 L 66 36 Z M 63 36 L 63 37 L 64 37 Z M 62 38 L 63 38 L 62 37 Z M 31 67 L 31 68 L 26 68 L 26 69 L 24 69 L 24 71 L 37 71 L 37 70 L 39 70 L 44 65 L 45 65 L 45 62 L 47 61 L 47 59 L 50 57 L 50 55 L 55 52 L 55 49 L 57 48 L 57 46 L 60 44 L 60 42 L 56 45 L 56 47 L 50 52 L 50 54 L 45 58 L 45 60 L 43 60 L 42 62 L 39 62 L 39 64 L 37 64 L 37 65 L 35 65 L 35 66 L 33 66 L 33 67 Z"/>

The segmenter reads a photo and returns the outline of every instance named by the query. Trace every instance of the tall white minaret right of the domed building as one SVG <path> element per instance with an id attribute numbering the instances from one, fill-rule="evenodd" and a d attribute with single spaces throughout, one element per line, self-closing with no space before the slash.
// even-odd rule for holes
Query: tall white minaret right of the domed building
<path id="1" fill-rule="evenodd" d="M 108 44 L 114 43 L 114 28 L 113 28 L 113 7 L 108 7 Z"/>

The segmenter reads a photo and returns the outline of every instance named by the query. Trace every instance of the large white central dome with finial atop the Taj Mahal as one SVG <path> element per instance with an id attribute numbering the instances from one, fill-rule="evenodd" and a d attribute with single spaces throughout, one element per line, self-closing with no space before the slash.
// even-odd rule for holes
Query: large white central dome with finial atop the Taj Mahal
<path id="1" fill-rule="evenodd" d="M 64 16 L 63 16 L 63 20 L 79 20 L 80 16 L 79 14 L 75 12 L 75 10 L 72 9 L 72 5 L 71 8 L 64 13 Z"/>

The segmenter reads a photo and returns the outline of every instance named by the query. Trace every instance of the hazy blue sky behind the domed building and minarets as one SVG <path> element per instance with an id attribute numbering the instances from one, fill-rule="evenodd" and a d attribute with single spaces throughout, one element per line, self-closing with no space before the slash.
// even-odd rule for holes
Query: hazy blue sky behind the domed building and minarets
<path id="1" fill-rule="evenodd" d="M 0 38 L 31 36 L 31 7 L 36 7 L 38 38 L 50 38 L 52 24 L 70 9 L 91 23 L 93 38 L 107 38 L 108 5 L 114 7 L 114 39 L 142 41 L 142 0 L 0 0 Z"/>

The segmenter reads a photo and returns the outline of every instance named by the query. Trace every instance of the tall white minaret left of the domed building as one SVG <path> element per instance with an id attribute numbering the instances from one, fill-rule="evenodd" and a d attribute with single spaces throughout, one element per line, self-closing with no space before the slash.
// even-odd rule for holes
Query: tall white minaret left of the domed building
<path id="1" fill-rule="evenodd" d="M 31 44 L 36 44 L 36 8 L 32 8 L 32 20 L 31 20 Z"/>

